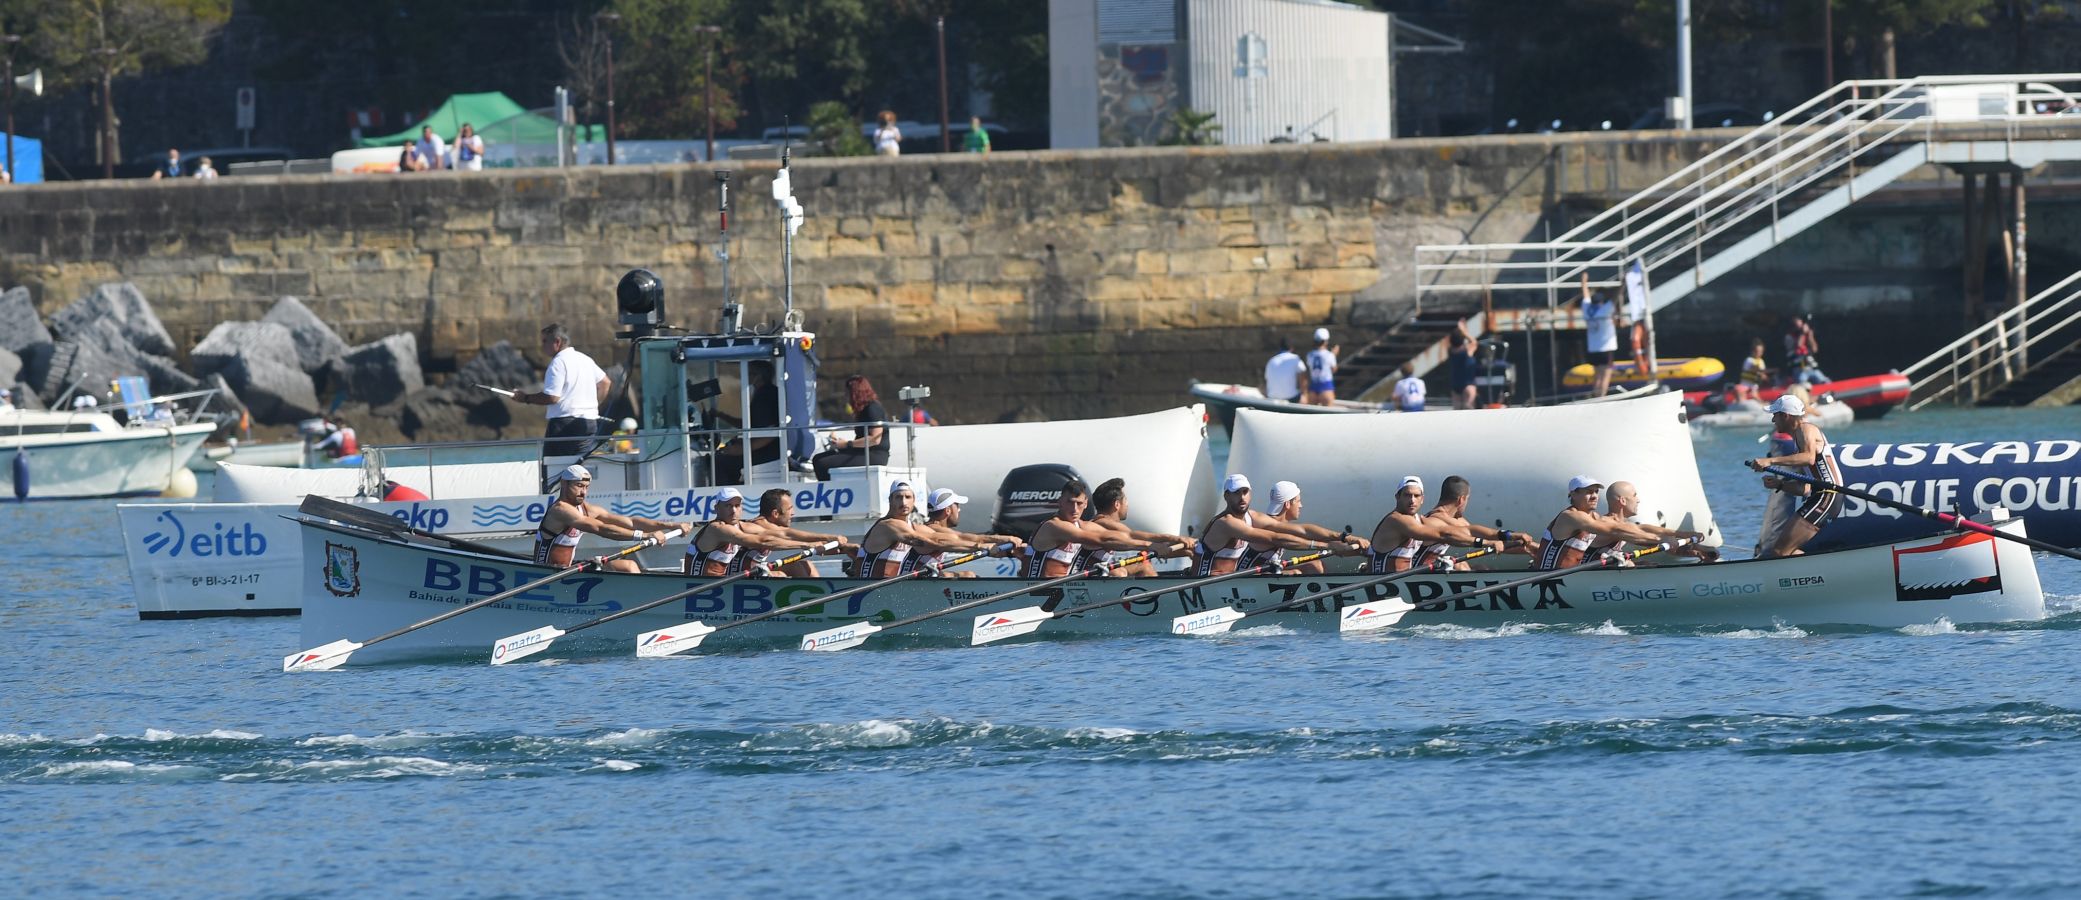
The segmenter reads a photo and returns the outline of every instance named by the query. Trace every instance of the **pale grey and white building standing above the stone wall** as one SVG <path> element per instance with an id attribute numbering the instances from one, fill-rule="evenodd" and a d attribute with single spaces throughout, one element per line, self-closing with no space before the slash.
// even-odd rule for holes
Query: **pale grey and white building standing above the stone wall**
<path id="1" fill-rule="evenodd" d="M 1051 140 L 1159 144 L 1184 108 L 1222 144 L 1394 138 L 1392 46 L 1332 0 L 1049 0 Z"/>

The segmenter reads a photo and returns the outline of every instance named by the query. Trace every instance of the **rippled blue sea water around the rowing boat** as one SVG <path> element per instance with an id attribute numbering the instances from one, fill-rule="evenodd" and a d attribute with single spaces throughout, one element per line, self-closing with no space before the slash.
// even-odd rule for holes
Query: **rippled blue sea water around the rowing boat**
<path id="1" fill-rule="evenodd" d="M 2073 438 L 2071 410 L 1833 438 Z M 1729 548 L 1752 433 L 1698 442 Z M 1623 473 L 1607 473 L 1623 477 Z M 0 506 L 10 896 L 2075 896 L 2054 619 L 1407 627 L 283 675 L 142 623 L 108 502 Z"/>

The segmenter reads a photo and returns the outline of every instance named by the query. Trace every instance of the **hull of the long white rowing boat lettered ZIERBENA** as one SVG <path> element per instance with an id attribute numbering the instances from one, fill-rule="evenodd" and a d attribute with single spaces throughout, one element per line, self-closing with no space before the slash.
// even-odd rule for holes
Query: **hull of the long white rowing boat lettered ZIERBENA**
<path id="1" fill-rule="evenodd" d="M 508 556 L 437 548 L 408 538 L 389 538 L 354 525 L 298 519 L 304 535 L 302 577 L 302 644 L 323 646 L 337 640 L 366 642 L 402 625 L 454 610 L 472 600 L 526 585 L 554 575 L 556 569 Z M 2023 533 L 2023 519 L 2000 521 L 1998 527 Z M 1348 562 L 1340 562 L 1348 565 Z M 1954 623 L 2044 619 L 2044 594 L 2029 548 L 1981 533 L 1944 533 L 1898 544 L 1877 544 L 1827 554 L 1736 560 L 1715 565 L 1671 565 L 1642 569 L 1600 569 L 1561 575 L 1546 583 L 1475 594 L 1450 604 L 1450 596 L 1484 583 L 1521 579 L 1525 573 L 1453 573 L 1417 575 L 1398 583 L 1353 590 L 1348 596 L 1307 604 L 1292 612 L 1261 617 L 1263 625 L 1303 631 L 1336 631 L 1338 608 L 1355 602 L 1401 596 L 1415 604 L 1401 625 L 1455 623 L 1496 627 L 1507 623 L 1577 623 L 1594 625 L 1865 625 L 1902 627 L 1933 623 L 1939 617 Z M 1120 598 L 1122 606 L 1049 623 L 1040 633 L 1170 633 L 1172 619 L 1234 604 L 1244 610 L 1294 600 L 1303 594 L 1334 590 L 1340 581 L 1355 583 L 1365 575 L 1303 575 L 1303 577 L 1236 577 L 1230 581 L 1157 594 L 1136 600 L 1178 579 L 1095 577 L 1020 594 L 972 612 L 999 612 L 1032 606 L 1043 600 L 1086 604 Z M 356 654 L 356 662 L 400 658 L 474 658 L 485 660 L 493 642 L 522 631 L 556 625 L 570 629 L 587 619 L 637 606 L 697 588 L 703 579 L 678 573 L 566 575 L 545 588 L 531 590 L 508 602 L 447 619 L 395 640 L 372 644 Z M 799 604 L 822 594 L 857 588 L 857 579 L 743 579 L 718 585 L 714 592 L 691 594 L 680 602 L 589 629 L 556 644 L 566 652 L 635 652 L 633 638 L 643 631 L 689 621 L 724 625 L 778 606 Z M 810 631 L 853 623 L 887 623 L 920 612 L 943 610 L 968 600 L 1018 590 L 1022 579 L 909 579 L 887 588 L 837 600 L 834 608 L 807 608 L 801 615 L 766 619 L 741 629 L 718 633 L 708 646 L 772 646 L 795 642 Z M 1034 581 L 1024 581 L 1034 583 Z M 1059 596 L 1055 594 L 1059 592 Z M 1401 592 L 1401 594 L 1396 594 Z M 966 640 L 972 615 L 947 615 L 924 621 L 899 633 L 920 638 Z"/>

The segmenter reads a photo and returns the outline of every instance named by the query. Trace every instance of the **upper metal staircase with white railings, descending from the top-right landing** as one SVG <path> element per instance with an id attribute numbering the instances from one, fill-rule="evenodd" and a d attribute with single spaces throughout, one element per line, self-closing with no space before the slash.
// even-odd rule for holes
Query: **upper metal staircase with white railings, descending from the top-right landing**
<path id="1" fill-rule="evenodd" d="M 1663 308 L 1923 165 L 2081 158 L 2073 92 L 2081 75 L 1844 81 L 1550 242 L 1419 246 L 1417 306 L 1480 298 L 1473 335 L 1582 327 L 1584 275 L 1617 288 L 1640 260 Z"/>

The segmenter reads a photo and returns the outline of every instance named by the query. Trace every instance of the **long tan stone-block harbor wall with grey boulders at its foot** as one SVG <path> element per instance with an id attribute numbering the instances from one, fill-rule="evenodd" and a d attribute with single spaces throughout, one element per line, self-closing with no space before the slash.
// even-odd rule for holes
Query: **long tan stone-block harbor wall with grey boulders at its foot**
<path id="1" fill-rule="evenodd" d="M 1413 308 L 1417 244 L 1538 240 L 1721 138 L 799 160 L 793 183 L 807 221 L 793 298 L 822 335 L 830 381 L 857 371 L 889 394 L 930 383 L 943 421 L 1163 408 L 1184 400 L 1192 377 L 1255 381 L 1282 338 L 1303 342 L 1317 325 L 1346 350 L 1363 346 Z M 728 171 L 730 288 L 747 323 L 772 325 L 782 294 L 776 167 Z M 1927 173 L 1942 188 L 1946 175 Z M 1825 223 L 1810 235 L 1829 252 L 1794 254 L 1792 271 L 1761 281 L 1723 279 L 1665 312 L 1665 333 L 1715 296 L 1742 298 L 1742 315 L 1900 292 L 1954 302 L 1958 250 L 1942 235 L 1956 233 L 1956 198 L 1929 194 L 1906 213 L 1915 225 L 1881 229 L 1879 242 L 1827 238 L 1856 229 L 1858 210 Z M 2033 200 L 2033 217 L 2056 202 Z M 635 267 L 664 279 L 672 325 L 714 327 L 716 223 L 716 171 L 705 167 L 54 183 L 0 192 L 0 285 L 27 288 L 21 302 L 50 321 L 52 346 L 71 342 L 92 360 L 123 335 L 154 379 L 223 375 L 283 410 L 345 390 L 370 413 L 422 423 L 420 438 L 437 433 L 435 421 L 535 433 L 539 410 L 508 406 L 502 421 L 452 392 L 470 383 L 458 369 L 504 344 L 499 367 L 539 373 L 535 333 L 549 321 L 612 362 L 612 290 Z M 2033 229 L 2033 260 L 2058 258 L 2069 235 Z M 1883 283 L 1867 288 L 1871 279 Z M 69 304 L 112 283 L 150 298 L 162 333 L 131 333 L 123 319 L 67 325 Z M 262 325 L 287 331 L 293 354 Z M 0 348 L 29 369 L 33 333 L 8 340 L 21 348 Z M 1725 354 L 1665 346 L 1673 352 Z M 422 392 L 437 394 L 406 400 Z"/>

